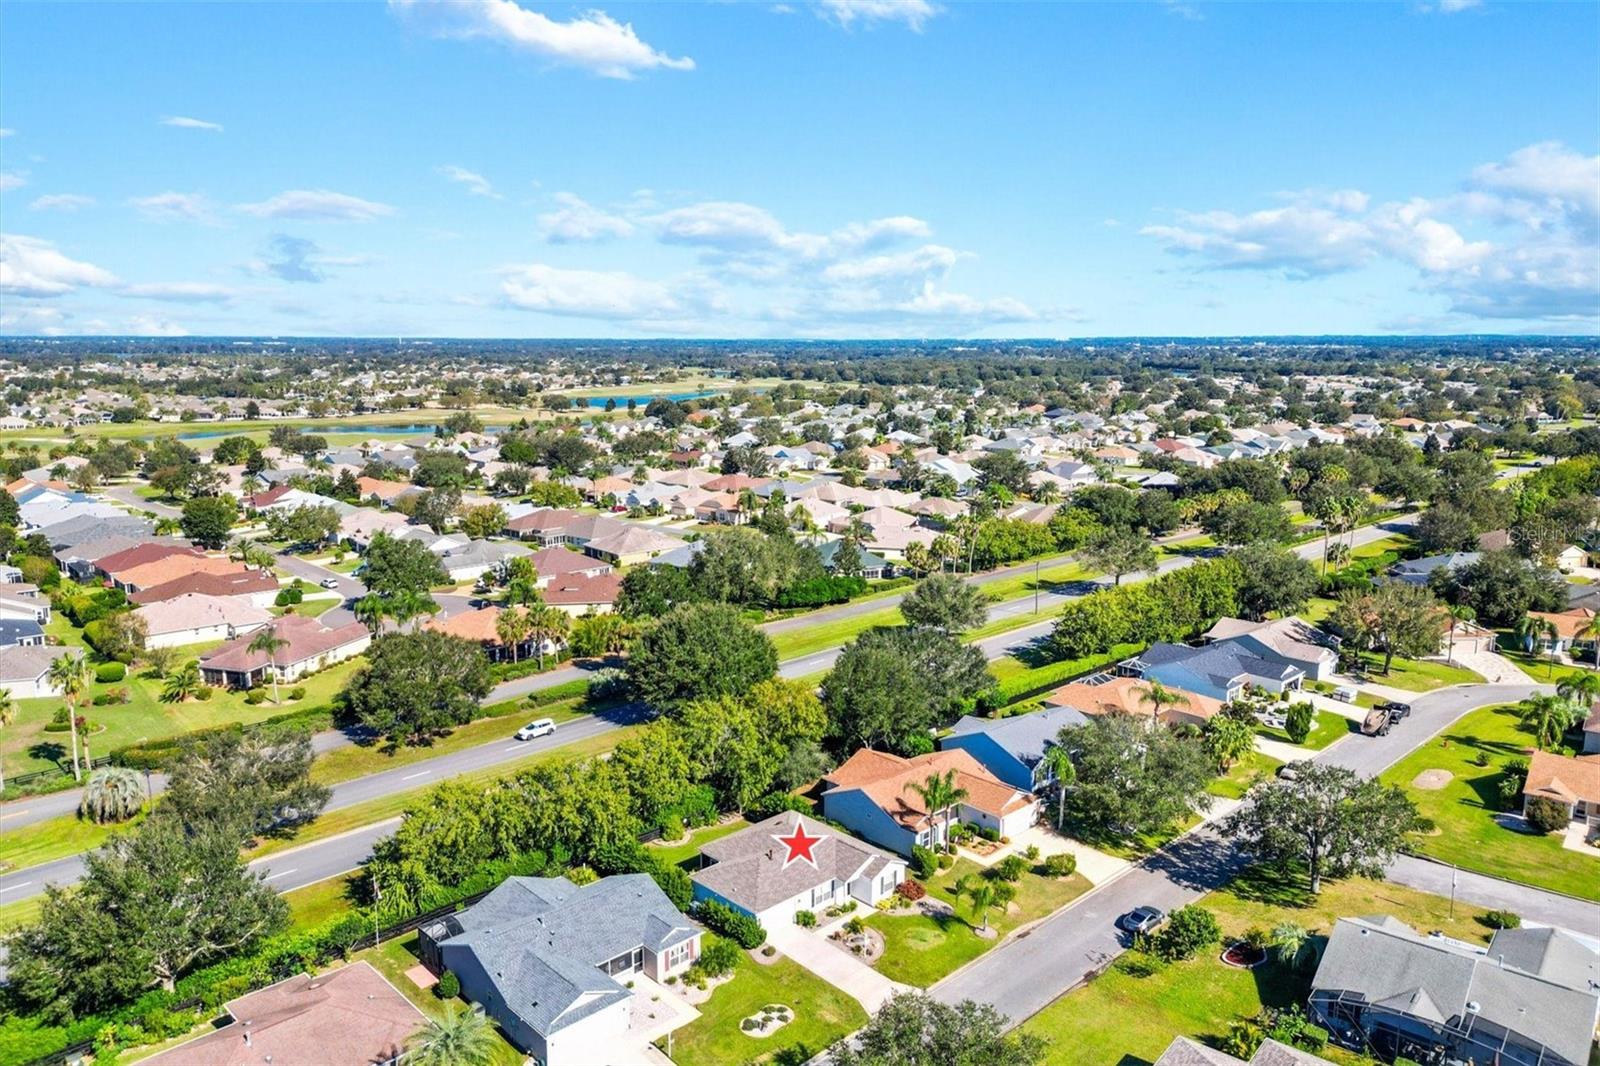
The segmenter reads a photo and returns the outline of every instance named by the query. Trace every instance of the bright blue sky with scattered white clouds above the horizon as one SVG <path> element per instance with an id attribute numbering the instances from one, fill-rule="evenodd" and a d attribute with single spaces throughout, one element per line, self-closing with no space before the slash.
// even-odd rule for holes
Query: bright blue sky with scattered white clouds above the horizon
<path id="1" fill-rule="evenodd" d="M 6 3 L 0 331 L 1600 330 L 1600 5 Z"/>

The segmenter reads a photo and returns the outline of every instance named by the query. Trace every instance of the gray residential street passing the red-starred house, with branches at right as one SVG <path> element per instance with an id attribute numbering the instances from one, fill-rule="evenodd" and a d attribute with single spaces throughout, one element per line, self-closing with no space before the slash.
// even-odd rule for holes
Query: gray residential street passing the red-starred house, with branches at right
<path id="1" fill-rule="evenodd" d="M 1373 775 L 1421 747 L 1437 731 L 1469 711 L 1522 699 L 1542 687 L 1472 685 L 1418 696 L 1411 715 L 1389 736 L 1352 733 L 1317 754 L 1318 762 Z M 1211 829 L 1200 829 L 1102 882 L 1032 930 L 995 948 L 955 972 L 933 994 L 955 1004 L 973 999 L 1021 1023 L 1091 973 L 1104 968 L 1128 948 L 1128 935 L 1115 920 L 1136 906 L 1157 906 L 1168 914 L 1227 884 L 1243 858 Z M 1389 871 L 1392 880 L 1424 892 L 1450 895 L 1451 871 L 1426 860 L 1402 858 Z M 1550 920 L 1579 932 L 1600 930 L 1600 904 L 1581 903 L 1526 885 L 1462 872 L 1456 898 L 1478 906 L 1507 906 L 1534 920 Z"/>

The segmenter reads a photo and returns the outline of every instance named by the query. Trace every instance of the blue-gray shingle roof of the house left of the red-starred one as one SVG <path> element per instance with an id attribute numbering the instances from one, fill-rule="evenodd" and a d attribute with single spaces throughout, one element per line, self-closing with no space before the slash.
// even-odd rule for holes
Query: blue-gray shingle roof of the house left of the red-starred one
<path id="1" fill-rule="evenodd" d="M 618 956 L 666 951 L 699 928 L 648 874 L 578 887 L 565 877 L 510 877 L 475 906 L 429 928 L 450 956 L 472 952 L 507 1010 L 549 1036 L 632 992 L 598 970 Z"/>

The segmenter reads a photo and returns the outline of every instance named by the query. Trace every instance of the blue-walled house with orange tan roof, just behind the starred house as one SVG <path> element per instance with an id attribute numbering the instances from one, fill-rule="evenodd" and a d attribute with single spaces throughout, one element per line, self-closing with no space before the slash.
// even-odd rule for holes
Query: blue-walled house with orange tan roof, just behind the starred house
<path id="1" fill-rule="evenodd" d="M 952 812 L 954 821 L 1005 837 L 1034 824 L 1038 800 L 994 776 L 962 749 L 906 759 L 862 747 L 822 778 L 822 816 L 898 855 L 910 855 L 914 845 L 942 845 L 944 813 L 926 810 L 912 786 L 952 770 L 955 786 L 966 792 Z"/>

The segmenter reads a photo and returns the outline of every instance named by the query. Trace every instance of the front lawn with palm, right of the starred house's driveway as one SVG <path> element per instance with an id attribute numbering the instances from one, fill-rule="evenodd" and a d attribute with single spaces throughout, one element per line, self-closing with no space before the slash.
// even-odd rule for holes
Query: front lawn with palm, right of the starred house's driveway
<path id="1" fill-rule="evenodd" d="M 998 908 L 990 909 L 989 927 L 998 936 L 986 940 L 974 932 L 982 925 L 981 919 L 973 919 L 966 900 L 955 895 L 957 880 L 979 874 L 976 863 L 960 860 L 928 882 L 928 895 L 952 904 L 955 916 L 875 914 L 867 919 L 885 940 L 883 957 L 875 964 L 878 973 L 893 981 L 928 988 L 998 944 L 1019 925 L 1059 911 L 1090 888 L 1082 874 L 1062 879 L 1042 877 L 1032 871 L 1022 874 L 1010 909 L 1005 914 Z"/>

